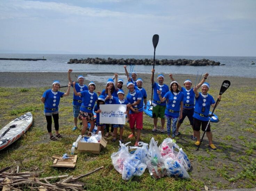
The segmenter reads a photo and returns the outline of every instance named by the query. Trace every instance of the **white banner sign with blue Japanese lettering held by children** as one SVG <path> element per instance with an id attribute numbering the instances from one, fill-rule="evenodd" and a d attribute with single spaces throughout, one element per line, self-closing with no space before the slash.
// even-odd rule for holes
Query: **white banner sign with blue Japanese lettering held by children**
<path id="1" fill-rule="evenodd" d="M 125 125 L 126 105 L 122 104 L 101 104 L 99 105 L 99 123 Z"/>

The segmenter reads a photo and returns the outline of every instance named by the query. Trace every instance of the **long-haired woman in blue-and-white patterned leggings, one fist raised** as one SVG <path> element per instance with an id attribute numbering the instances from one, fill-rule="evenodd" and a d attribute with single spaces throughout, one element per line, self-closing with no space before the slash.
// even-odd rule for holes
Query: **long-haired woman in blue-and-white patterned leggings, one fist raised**
<path id="1" fill-rule="evenodd" d="M 167 100 L 167 106 L 165 109 L 165 115 L 167 118 L 167 134 L 168 137 L 171 135 L 172 127 L 172 138 L 176 135 L 176 125 L 178 118 L 182 118 L 182 107 L 184 94 L 178 90 L 178 83 L 176 81 L 171 82 L 170 91 L 168 91 L 162 98 L 161 91 L 157 91 L 161 102 Z M 171 122 L 172 121 L 172 122 Z"/>

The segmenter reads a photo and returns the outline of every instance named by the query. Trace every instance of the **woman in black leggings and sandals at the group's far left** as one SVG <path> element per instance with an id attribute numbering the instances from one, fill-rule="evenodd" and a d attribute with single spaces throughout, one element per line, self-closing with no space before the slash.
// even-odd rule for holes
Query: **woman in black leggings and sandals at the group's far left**
<path id="1" fill-rule="evenodd" d="M 71 83 L 69 83 L 69 85 L 67 86 L 66 93 L 60 92 L 58 90 L 61 87 L 61 84 L 59 83 L 59 81 L 54 81 L 53 88 L 46 90 L 41 97 L 41 101 L 45 105 L 44 114 L 45 114 L 46 121 L 47 121 L 47 130 L 50 135 L 50 139 L 53 141 L 57 140 L 55 138 L 55 136 L 57 138 L 62 138 L 62 135 L 59 134 L 59 109 L 58 109 L 58 106 L 59 106 L 60 99 L 64 96 L 69 95 L 70 86 L 71 86 Z M 52 123 L 51 116 L 53 116 L 53 120 L 54 120 L 55 136 L 53 136 L 53 134 L 51 133 L 51 123 Z"/>

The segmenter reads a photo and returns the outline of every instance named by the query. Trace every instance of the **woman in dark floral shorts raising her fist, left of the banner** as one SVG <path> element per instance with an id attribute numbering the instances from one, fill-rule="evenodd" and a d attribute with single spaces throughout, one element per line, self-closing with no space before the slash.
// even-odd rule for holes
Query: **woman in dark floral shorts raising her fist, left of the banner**
<path id="1" fill-rule="evenodd" d="M 75 86 L 75 82 L 73 82 L 73 86 Z M 90 129 L 89 129 L 88 135 L 90 135 L 91 131 L 93 131 L 94 129 L 93 108 L 94 108 L 95 102 L 98 99 L 97 93 L 95 93 L 94 90 L 95 90 L 94 82 L 89 83 L 89 90 L 77 92 L 77 90 L 73 88 L 75 95 L 81 96 L 83 98 L 82 104 L 80 106 L 79 117 L 78 117 L 83 122 L 81 135 L 85 134 L 86 129 L 88 127 L 88 121 L 90 123 Z"/>

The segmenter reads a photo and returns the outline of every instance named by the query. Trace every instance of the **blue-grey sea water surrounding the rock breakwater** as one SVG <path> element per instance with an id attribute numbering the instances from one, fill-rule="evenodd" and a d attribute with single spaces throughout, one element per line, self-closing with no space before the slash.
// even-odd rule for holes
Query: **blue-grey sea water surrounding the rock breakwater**
<path id="1" fill-rule="evenodd" d="M 68 55 L 68 54 L 0 54 L 0 58 L 45 58 L 39 61 L 20 60 L 0 60 L 1 72 L 67 72 L 69 68 L 74 72 L 107 72 L 124 73 L 121 65 L 97 65 L 97 64 L 67 64 L 71 58 L 135 58 L 151 59 L 153 55 Z M 219 61 L 225 66 L 155 66 L 156 73 L 173 74 L 194 74 L 208 72 L 212 76 L 236 76 L 236 77 L 256 77 L 256 65 L 251 65 L 251 61 L 256 63 L 256 57 L 229 57 L 229 56 L 159 56 L 155 59 L 209 59 Z M 137 73 L 151 73 L 153 66 L 135 65 L 133 71 Z M 130 66 L 127 67 L 129 72 Z"/>

